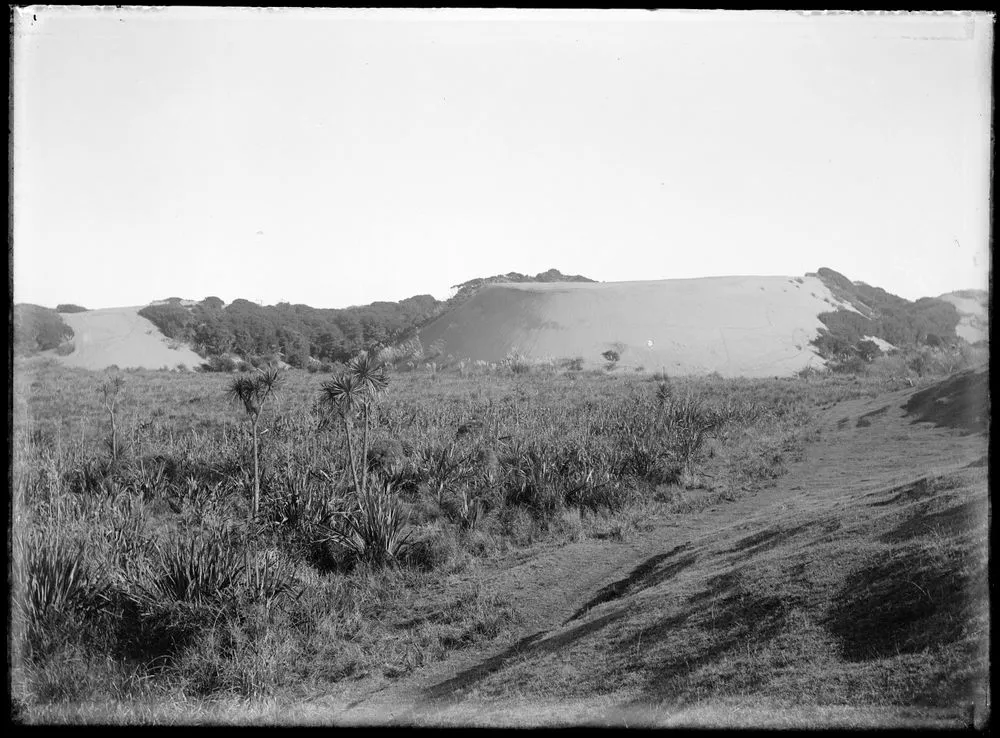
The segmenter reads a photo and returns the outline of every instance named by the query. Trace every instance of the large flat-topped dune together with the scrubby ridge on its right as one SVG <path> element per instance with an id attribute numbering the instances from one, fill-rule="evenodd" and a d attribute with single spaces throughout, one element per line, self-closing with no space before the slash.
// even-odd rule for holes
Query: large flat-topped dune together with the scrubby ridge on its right
<path id="1" fill-rule="evenodd" d="M 829 268 L 805 277 L 533 281 L 473 281 L 474 294 L 420 328 L 422 344 L 456 360 L 773 376 L 960 338 L 949 300 L 911 302 Z"/>

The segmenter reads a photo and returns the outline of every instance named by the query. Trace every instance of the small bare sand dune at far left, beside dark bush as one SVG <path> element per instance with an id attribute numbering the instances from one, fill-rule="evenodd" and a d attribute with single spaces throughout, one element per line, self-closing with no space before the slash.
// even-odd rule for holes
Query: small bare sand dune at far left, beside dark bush
<path id="1" fill-rule="evenodd" d="M 149 320 L 139 315 L 141 307 L 106 308 L 84 313 L 64 313 L 73 329 L 73 353 L 55 358 L 84 369 L 168 369 L 184 364 L 189 369 L 204 359 L 187 347 L 171 348 L 170 341 Z"/>

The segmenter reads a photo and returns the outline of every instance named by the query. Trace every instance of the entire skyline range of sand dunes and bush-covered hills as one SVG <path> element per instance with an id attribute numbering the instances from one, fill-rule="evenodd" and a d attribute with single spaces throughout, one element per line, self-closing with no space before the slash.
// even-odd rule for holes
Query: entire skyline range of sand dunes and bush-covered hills
<path id="1" fill-rule="evenodd" d="M 767 376 L 987 337 L 982 291 L 911 302 L 828 268 L 805 277 L 600 283 L 550 269 L 454 289 L 446 301 L 417 295 L 343 309 L 243 299 L 227 305 L 218 297 L 109 310 L 21 304 L 13 311 L 13 348 L 91 368 L 207 363 L 229 370 L 238 356 L 326 371 L 360 350 L 396 346 L 397 360 L 414 365 L 516 354 L 579 366 Z"/>

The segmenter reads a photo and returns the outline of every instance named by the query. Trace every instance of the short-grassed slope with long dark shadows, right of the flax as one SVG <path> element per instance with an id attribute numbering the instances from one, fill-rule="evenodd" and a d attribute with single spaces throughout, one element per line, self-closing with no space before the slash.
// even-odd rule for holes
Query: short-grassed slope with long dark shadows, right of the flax
<path id="1" fill-rule="evenodd" d="M 340 718 L 982 725 L 985 380 L 835 405 L 772 487 L 498 574 L 530 603 L 515 642 Z"/>

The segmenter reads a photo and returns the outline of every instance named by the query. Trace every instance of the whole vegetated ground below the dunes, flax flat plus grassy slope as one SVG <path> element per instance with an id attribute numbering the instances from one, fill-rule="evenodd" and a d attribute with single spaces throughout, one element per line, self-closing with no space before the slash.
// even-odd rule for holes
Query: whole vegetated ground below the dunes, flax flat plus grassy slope
<path id="1" fill-rule="evenodd" d="M 109 468 L 103 376 L 15 369 L 29 721 L 936 726 L 988 702 L 984 371 L 676 379 L 728 418 L 683 472 L 680 430 L 644 424 L 686 405 L 648 377 L 394 375 L 372 446 L 414 546 L 371 570 L 316 545 L 350 501 L 319 378 L 287 374 L 247 521 L 228 378 L 125 373 Z"/>

